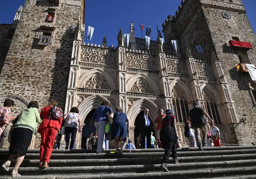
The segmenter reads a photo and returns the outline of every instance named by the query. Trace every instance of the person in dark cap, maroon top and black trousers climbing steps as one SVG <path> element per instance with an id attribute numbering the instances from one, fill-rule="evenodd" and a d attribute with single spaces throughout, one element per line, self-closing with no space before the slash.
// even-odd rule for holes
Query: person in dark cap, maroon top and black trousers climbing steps
<path id="1" fill-rule="evenodd" d="M 169 162 L 169 155 L 172 151 L 173 162 L 178 162 L 177 155 L 177 129 L 176 129 L 176 117 L 173 115 L 172 110 L 168 109 L 165 111 L 166 116 L 161 119 L 162 128 L 160 130 L 160 141 L 162 144 L 162 148 L 165 149 L 164 156 L 161 164 L 161 168 L 164 172 L 169 172 L 167 168 L 167 164 Z"/>

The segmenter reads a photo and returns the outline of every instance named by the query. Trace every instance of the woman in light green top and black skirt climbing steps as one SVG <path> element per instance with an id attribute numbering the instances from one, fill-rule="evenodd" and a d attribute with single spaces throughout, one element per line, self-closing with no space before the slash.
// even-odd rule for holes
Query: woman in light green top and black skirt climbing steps
<path id="1" fill-rule="evenodd" d="M 42 122 L 38 108 L 39 104 L 37 101 L 29 102 L 28 109 L 21 112 L 18 121 L 12 126 L 9 147 L 11 155 L 2 165 L 5 170 L 9 171 L 11 160 L 17 157 L 14 169 L 11 172 L 12 177 L 21 176 L 18 174 L 18 169 L 27 153 L 32 136 L 35 134 L 37 123 L 40 124 Z"/>

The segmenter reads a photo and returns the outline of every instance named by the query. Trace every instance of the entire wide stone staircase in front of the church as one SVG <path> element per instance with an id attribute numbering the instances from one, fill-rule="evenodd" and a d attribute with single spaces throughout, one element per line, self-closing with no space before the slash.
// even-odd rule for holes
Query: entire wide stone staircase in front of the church
<path id="1" fill-rule="evenodd" d="M 169 164 L 166 173 L 160 168 L 163 149 L 132 150 L 132 158 L 127 149 L 122 157 L 111 150 L 54 150 L 46 169 L 37 167 L 39 150 L 29 150 L 19 173 L 24 179 L 256 179 L 256 146 L 197 149 L 177 149 L 180 163 Z M 8 150 L 0 150 L 1 165 L 8 156 Z M 10 178 L 1 168 L 0 179 Z"/>

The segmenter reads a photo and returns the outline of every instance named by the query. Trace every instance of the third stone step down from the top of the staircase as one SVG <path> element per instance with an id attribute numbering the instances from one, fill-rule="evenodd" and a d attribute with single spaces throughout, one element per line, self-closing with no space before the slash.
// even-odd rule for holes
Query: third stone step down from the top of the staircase
<path id="1" fill-rule="evenodd" d="M 178 157 L 180 163 L 188 162 L 206 162 L 206 161 L 232 161 L 256 159 L 256 154 L 239 154 L 239 155 L 215 155 L 215 156 L 190 156 Z M 172 158 L 170 158 L 170 161 Z M 4 163 L 5 160 L 0 160 Z M 147 165 L 159 164 L 162 157 L 158 158 L 115 158 L 115 159 L 53 159 L 50 162 L 51 167 L 74 167 L 74 166 L 122 166 L 122 165 Z M 15 160 L 12 161 L 11 167 L 14 167 Z M 25 159 L 21 167 L 37 167 L 39 159 Z"/>

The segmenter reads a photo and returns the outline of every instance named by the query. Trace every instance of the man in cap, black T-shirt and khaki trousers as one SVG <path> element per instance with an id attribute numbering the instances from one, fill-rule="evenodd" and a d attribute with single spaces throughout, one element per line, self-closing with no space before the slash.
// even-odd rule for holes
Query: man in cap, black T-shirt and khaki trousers
<path id="1" fill-rule="evenodd" d="M 188 120 L 191 121 L 191 126 L 195 130 L 196 142 L 200 151 L 203 151 L 202 147 L 206 145 L 206 135 L 207 135 L 207 126 L 204 115 L 210 120 L 210 123 L 213 123 L 213 120 L 210 116 L 204 111 L 203 108 L 199 108 L 199 104 L 197 102 L 193 103 L 193 109 L 189 111 Z M 203 133 L 203 139 L 201 140 L 200 129 Z"/>

